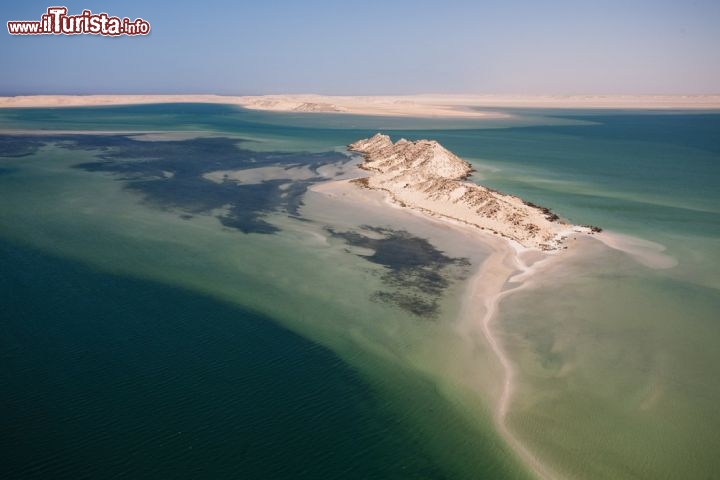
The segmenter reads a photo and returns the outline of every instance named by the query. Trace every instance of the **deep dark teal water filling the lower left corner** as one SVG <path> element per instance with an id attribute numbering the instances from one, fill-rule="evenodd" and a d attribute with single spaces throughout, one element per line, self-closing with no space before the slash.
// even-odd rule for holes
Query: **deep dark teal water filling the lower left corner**
<path id="1" fill-rule="evenodd" d="M 3 479 L 443 478 L 267 318 L 6 242 L 0 265 Z"/>

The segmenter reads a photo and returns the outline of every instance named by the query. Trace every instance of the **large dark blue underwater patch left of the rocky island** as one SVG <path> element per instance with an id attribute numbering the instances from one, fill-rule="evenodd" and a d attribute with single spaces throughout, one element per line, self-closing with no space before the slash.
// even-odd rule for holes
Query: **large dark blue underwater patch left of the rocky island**
<path id="1" fill-rule="evenodd" d="M 227 137 L 176 141 L 136 140 L 130 135 L 20 138 L 24 140 L 8 149 L 29 152 L 53 143 L 69 150 L 91 151 L 97 161 L 80 163 L 75 168 L 110 173 L 123 181 L 125 188 L 141 195 L 148 205 L 175 211 L 184 219 L 222 210 L 217 216 L 222 225 L 244 233 L 277 232 L 278 228 L 264 217 L 278 211 L 297 217 L 308 186 L 326 179 L 318 174 L 302 181 L 278 179 L 243 184 L 229 179 L 215 182 L 205 178 L 205 174 L 269 166 L 302 166 L 316 172 L 323 165 L 347 161 L 338 152 L 255 152 L 242 148 L 246 141 Z"/>

